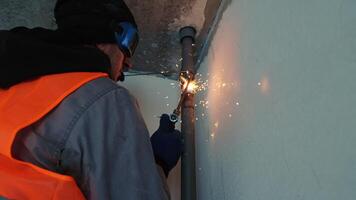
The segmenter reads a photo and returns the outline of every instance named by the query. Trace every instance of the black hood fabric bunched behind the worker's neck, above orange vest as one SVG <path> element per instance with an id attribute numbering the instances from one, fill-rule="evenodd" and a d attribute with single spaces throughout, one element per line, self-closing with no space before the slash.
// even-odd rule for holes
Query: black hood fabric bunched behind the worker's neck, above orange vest
<path id="1" fill-rule="evenodd" d="M 110 60 L 104 53 L 65 44 L 66 37 L 43 28 L 0 31 L 0 88 L 49 74 L 109 71 Z"/>

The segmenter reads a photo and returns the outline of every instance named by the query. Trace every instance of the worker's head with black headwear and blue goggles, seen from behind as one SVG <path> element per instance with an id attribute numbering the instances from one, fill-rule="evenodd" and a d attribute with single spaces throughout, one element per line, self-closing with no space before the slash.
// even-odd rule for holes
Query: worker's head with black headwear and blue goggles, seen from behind
<path id="1" fill-rule="evenodd" d="M 77 44 L 96 46 L 108 56 L 113 80 L 123 78 L 138 42 L 135 19 L 124 1 L 58 0 L 55 18 L 58 30 Z"/>

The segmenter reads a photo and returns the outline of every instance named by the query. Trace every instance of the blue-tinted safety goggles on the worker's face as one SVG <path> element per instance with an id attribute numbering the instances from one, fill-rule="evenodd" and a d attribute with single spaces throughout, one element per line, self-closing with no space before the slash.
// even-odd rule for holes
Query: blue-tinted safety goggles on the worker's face
<path id="1" fill-rule="evenodd" d="M 116 43 L 125 56 L 132 57 L 139 41 L 138 30 L 129 22 L 118 25 L 118 31 L 115 31 Z"/>

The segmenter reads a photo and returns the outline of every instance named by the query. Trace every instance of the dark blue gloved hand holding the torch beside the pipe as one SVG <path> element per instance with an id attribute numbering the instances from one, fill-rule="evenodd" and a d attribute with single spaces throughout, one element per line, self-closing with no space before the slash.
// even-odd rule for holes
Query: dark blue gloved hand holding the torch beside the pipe
<path id="1" fill-rule="evenodd" d="M 175 123 L 169 120 L 169 115 L 163 114 L 159 128 L 151 137 L 151 144 L 156 163 L 168 173 L 176 166 L 182 153 L 182 140 L 180 131 L 175 130 Z"/>

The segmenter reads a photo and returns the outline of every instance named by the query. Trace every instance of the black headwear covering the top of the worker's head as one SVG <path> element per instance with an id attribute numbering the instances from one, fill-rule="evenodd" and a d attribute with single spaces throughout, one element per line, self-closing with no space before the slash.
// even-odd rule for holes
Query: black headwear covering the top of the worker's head
<path id="1" fill-rule="evenodd" d="M 115 43 L 118 24 L 135 19 L 123 0 L 58 0 L 54 8 L 58 30 L 79 43 Z"/>

